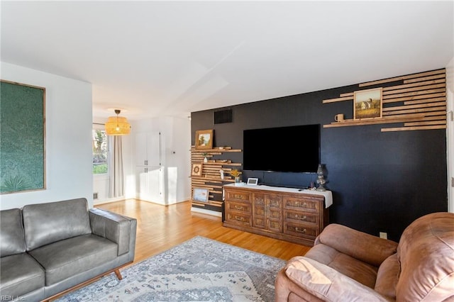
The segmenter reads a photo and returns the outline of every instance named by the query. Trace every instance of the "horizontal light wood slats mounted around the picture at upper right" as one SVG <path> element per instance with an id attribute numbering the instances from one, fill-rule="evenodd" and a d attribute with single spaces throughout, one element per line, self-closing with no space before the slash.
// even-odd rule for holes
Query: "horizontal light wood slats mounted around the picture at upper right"
<path id="1" fill-rule="evenodd" d="M 393 85 L 392 83 L 395 84 Z M 378 81 L 362 83 L 359 84 L 359 86 L 367 87 L 380 84 L 391 84 L 390 86 L 382 87 L 382 118 L 333 122 L 328 125 L 323 125 L 323 128 L 373 125 L 380 123 L 403 123 L 403 127 L 382 128 L 382 132 L 401 131 L 402 129 L 428 130 L 445 128 L 445 69 L 381 79 Z M 338 98 L 326 99 L 323 100 L 322 103 L 329 104 L 338 101 L 353 101 L 354 94 L 355 91 L 343 93 L 340 94 Z"/>

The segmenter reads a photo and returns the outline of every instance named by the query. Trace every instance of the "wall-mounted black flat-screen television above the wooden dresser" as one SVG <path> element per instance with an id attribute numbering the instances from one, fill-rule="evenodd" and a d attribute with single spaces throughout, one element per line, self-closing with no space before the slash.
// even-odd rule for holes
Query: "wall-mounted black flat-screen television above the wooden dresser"
<path id="1" fill-rule="evenodd" d="M 316 172 L 320 163 L 320 125 L 243 130 L 243 169 Z"/>

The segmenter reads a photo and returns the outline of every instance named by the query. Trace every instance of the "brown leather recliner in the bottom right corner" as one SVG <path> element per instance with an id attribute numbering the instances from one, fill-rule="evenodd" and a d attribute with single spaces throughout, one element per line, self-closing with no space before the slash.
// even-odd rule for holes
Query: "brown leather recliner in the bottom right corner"
<path id="1" fill-rule="evenodd" d="M 416 219 L 399 241 L 328 225 L 277 274 L 275 301 L 454 301 L 454 213 Z"/>

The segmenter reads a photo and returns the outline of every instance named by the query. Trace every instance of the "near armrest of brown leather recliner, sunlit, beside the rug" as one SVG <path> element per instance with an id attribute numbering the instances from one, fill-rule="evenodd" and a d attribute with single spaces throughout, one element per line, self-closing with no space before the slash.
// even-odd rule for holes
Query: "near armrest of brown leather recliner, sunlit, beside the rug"
<path id="1" fill-rule="evenodd" d="M 314 259 L 297 256 L 284 267 L 295 284 L 323 301 L 389 301 L 373 289 Z"/>

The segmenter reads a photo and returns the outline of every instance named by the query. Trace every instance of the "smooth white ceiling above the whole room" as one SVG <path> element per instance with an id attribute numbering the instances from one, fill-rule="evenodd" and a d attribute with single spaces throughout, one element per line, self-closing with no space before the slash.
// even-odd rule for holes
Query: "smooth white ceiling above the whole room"
<path id="1" fill-rule="evenodd" d="M 453 1 L 1 1 L 1 61 L 131 120 L 443 68 Z"/>

